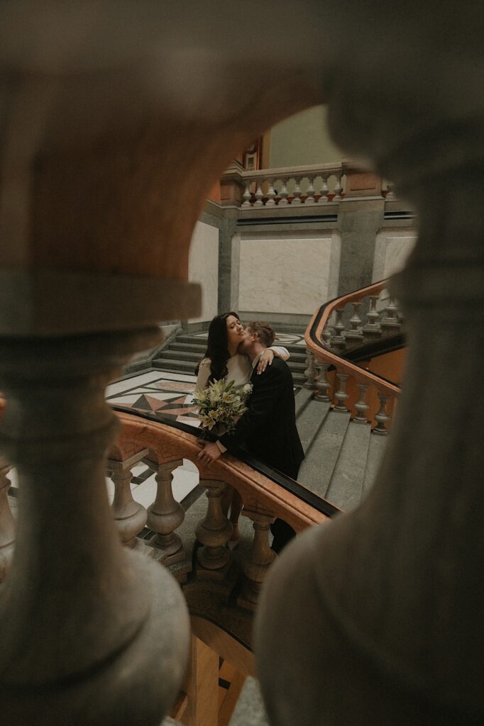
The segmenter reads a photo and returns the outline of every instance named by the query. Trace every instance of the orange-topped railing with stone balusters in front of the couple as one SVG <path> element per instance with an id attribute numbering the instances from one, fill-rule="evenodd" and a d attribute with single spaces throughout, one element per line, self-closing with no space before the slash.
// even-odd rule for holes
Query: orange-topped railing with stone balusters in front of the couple
<path id="1" fill-rule="evenodd" d="M 206 488 L 208 499 L 206 514 L 193 532 L 193 542 L 195 539 L 201 542 L 196 550 L 195 579 L 221 581 L 230 567 L 233 555 L 227 543 L 232 524 L 222 511 L 222 492 L 227 485 L 241 494 L 242 515 L 254 522 L 254 542 L 249 559 L 243 563 L 246 579 L 238 598 L 243 606 L 254 607 L 267 568 L 275 557 L 269 545 L 270 523 L 278 517 L 300 532 L 328 520 L 338 511 L 296 481 L 272 472 L 250 457 L 242 461 L 227 454 L 209 467 L 203 465 L 197 459 L 200 448 L 193 427 L 148 420 L 119 409 L 117 415 L 122 425 L 121 436 L 110 450 L 108 470 L 115 485 L 113 513 L 121 539 L 125 544 L 133 545 L 134 537 L 147 524 L 156 533 L 150 545 L 157 550 L 158 559 L 167 566 L 187 563 L 185 571 L 180 565 L 174 571 L 175 576 L 181 573 L 182 582 L 187 570 L 191 570 L 192 555 L 185 551 L 182 537 L 177 533 L 185 512 L 173 497 L 172 479 L 183 459 L 190 460 L 198 468 L 198 486 Z M 134 502 L 129 486 L 131 469 L 140 460 L 156 471 L 156 499 L 148 510 Z"/>

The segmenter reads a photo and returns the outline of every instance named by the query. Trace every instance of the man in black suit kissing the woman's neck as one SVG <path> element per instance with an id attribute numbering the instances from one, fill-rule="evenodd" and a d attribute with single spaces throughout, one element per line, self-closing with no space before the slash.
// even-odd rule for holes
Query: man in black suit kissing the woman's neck
<path id="1" fill-rule="evenodd" d="M 281 358 L 274 358 L 261 375 L 255 373 L 260 355 L 273 344 L 274 338 L 274 331 L 267 323 L 247 325 L 238 352 L 249 356 L 252 363 L 249 410 L 238 420 L 235 431 L 220 436 L 219 441 L 203 444 L 198 458 L 204 463 L 217 460 L 227 449 L 234 451 L 243 446 L 271 468 L 297 478 L 304 452 L 296 428 L 291 371 Z M 295 535 L 294 529 L 281 519 L 275 520 L 271 530 L 275 552 L 280 552 Z"/>

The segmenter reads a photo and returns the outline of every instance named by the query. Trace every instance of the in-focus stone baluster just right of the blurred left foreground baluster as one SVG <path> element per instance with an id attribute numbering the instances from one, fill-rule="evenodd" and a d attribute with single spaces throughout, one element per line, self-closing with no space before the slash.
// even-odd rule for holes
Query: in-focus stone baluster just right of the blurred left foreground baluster
<path id="1" fill-rule="evenodd" d="M 137 544 L 136 535 L 146 524 L 145 507 L 135 502 L 131 491 L 132 468 L 148 454 L 148 449 L 133 454 L 124 461 L 108 459 L 107 469 L 114 484 L 113 515 L 121 542 L 128 547 Z"/>

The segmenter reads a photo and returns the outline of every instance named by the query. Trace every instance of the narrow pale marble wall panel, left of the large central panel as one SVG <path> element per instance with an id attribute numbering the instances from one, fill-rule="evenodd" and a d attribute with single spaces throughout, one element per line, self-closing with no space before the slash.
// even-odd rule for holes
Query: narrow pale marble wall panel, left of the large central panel
<path id="1" fill-rule="evenodd" d="M 202 286 L 201 316 L 188 322 L 211 320 L 217 315 L 219 280 L 219 229 L 197 222 L 190 242 L 188 280 Z"/>

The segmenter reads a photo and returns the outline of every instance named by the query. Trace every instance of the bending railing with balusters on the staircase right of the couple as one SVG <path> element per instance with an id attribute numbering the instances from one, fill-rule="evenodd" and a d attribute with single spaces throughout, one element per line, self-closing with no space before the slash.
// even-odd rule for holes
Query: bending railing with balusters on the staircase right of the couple
<path id="1" fill-rule="evenodd" d="M 312 316 L 304 335 L 308 353 L 306 371 L 307 387 L 315 388 L 316 398 L 322 401 L 334 400 L 334 410 L 346 412 L 347 382 L 358 387 L 358 401 L 354 404 L 358 423 L 368 423 L 368 391 L 377 396 L 379 408 L 374 413 L 374 433 L 387 434 L 395 400 L 400 395 L 400 387 L 380 375 L 367 370 L 344 358 L 343 351 L 366 340 L 382 338 L 399 333 L 403 327 L 403 316 L 398 311 L 393 298 L 389 298 L 382 311 L 377 310 L 377 301 L 386 290 L 387 280 L 368 285 L 348 295 L 335 298 L 321 306 Z M 360 306 L 368 299 L 368 322 L 363 325 L 360 319 Z M 352 317 L 344 322 L 344 311 L 352 306 Z M 319 368 L 319 370 L 318 370 Z M 334 368 L 334 386 L 328 380 L 328 369 Z M 336 383 L 338 384 L 336 386 Z M 331 393 L 331 388 L 333 392 Z"/>

